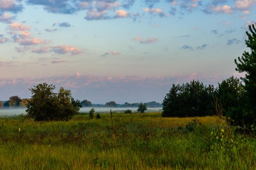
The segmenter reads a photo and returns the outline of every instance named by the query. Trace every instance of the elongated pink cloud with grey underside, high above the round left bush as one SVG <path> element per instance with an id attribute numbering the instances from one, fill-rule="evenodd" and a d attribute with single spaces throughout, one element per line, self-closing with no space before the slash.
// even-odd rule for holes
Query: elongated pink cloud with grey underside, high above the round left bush
<path id="1" fill-rule="evenodd" d="M 79 50 L 79 48 L 75 46 L 67 46 L 67 45 L 60 45 L 60 46 L 51 46 L 52 51 L 54 51 L 57 54 L 80 54 L 82 51 Z"/>

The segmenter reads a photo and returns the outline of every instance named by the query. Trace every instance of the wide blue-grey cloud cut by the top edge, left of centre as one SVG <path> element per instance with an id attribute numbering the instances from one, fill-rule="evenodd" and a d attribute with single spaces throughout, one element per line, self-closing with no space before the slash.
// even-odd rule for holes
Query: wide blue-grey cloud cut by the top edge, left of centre
<path id="1" fill-rule="evenodd" d="M 42 5 L 49 13 L 73 14 L 79 10 L 74 0 L 27 0 L 28 4 Z"/>

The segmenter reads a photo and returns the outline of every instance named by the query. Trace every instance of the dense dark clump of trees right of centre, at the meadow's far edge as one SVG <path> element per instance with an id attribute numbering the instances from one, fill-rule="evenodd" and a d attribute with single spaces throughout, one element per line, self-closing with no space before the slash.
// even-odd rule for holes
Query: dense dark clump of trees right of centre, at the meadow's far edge
<path id="1" fill-rule="evenodd" d="M 163 117 L 193 117 L 209 115 L 214 87 L 202 82 L 173 84 L 163 101 Z"/>

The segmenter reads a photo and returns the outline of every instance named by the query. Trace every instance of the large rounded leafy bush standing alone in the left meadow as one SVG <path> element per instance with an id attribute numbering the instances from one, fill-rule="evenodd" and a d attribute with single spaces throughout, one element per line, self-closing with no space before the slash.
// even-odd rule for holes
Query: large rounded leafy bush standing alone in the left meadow
<path id="1" fill-rule="evenodd" d="M 54 93 L 54 89 L 54 85 L 47 83 L 38 84 L 29 89 L 32 96 L 27 104 L 26 116 L 34 118 L 35 121 L 67 121 L 77 114 L 80 106 L 72 104 L 74 99 L 70 90 L 61 87 L 58 93 Z"/>

